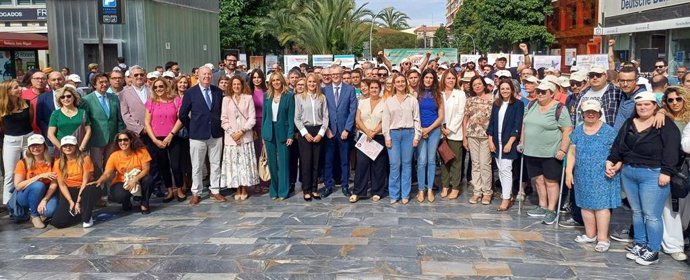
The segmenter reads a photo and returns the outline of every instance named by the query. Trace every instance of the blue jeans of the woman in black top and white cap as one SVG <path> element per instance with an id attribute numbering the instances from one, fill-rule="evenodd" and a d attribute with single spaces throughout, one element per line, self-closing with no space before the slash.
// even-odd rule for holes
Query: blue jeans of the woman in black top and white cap
<path id="1" fill-rule="evenodd" d="M 635 243 L 659 252 L 664 234 L 661 213 L 671 193 L 668 185 L 659 186 L 660 168 L 623 166 L 623 189 L 633 212 Z"/>

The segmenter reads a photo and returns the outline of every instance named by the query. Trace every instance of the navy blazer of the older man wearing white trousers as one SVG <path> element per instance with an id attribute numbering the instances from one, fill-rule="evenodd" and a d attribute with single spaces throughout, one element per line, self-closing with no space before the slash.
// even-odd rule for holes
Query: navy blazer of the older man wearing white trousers
<path id="1" fill-rule="evenodd" d="M 185 91 L 179 119 L 189 129 L 190 139 L 208 140 L 223 137 L 223 128 L 220 127 L 223 91 L 214 85 L 210 85 L 210 89 L 211 110 L 206 105 L 199 84 Z"/>

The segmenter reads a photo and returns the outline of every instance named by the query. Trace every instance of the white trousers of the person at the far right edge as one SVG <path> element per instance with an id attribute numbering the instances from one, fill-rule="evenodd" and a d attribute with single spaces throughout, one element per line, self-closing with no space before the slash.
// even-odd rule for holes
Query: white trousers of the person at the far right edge
<path id="1" fill-rule="evenodd" d="M 678 201 L 678 212 L 673 212 L 671 206 L 671 196 L 669 195 L 664 204 L 664 210 L 661 212 L 661 221 L 664 225 L 664 237 L 661 240 L 661 247 L 666 253 L 683 252 L 683 220 L 690 217 L 690 207 L 688 207 L 688 197 Z"/>

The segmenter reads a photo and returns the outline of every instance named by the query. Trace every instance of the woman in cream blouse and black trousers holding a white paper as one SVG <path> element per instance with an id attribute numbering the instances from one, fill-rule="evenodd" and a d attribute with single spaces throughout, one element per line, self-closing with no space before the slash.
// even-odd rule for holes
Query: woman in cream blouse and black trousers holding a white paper
<path id="1" fill-rule="evenodd" d="M 381 82 L 369 81 L 369 92 L 379 92 Z M 360 100 L 357 106 L 355 121 L 360 137 L 365 141 L 376 141 L 381 147 L 385 144 L 381 119 L 383 117 L 383 100 L 378 94 L 372 94 L 369 98 Z M 359 141 L 358 141 L 359 142 Z M 367 195 L 367 185 L 371 184 L 371 200 L 377 202 L 386 194 L 386 180 L 388 179 L 388 155 L 383 149 L 371 159 L 361 150 L 357 149 L 357 168 L 355 169 L 355 186 L 350 202 L 355 203 L 360 197 Z"/>

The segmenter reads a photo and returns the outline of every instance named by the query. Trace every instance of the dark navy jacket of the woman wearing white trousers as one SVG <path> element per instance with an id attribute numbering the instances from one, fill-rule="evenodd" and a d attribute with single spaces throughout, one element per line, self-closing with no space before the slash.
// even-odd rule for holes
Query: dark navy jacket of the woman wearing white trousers
<path id="1" fill-rule="evenodd" d="M 513 146 L 510 148 L 510 153 L 503 153 L 504 159 L 517 159 L 517 145 L 520 143 L 520 133 L 522 132 L 522 117 L 525 114 L 524 103 L 518 101 L 508 104 L 505 116 L 503 116 L 502 131 L 498 131 L 498 111 L 501 106 L 494 104 L 491 108 L 491 119 L 489 119 L 489 127 L 486 129 L 486 134 L 493 138 L 494 146 L 496 146 L 496 153 L 494 157 L 498 158 L 498 153 L 503 153 L 503 147 L 498 145 L 498 135 L 501 134 L 503 144 L 508 142 L 510 137 L 515 136 Z"/>

